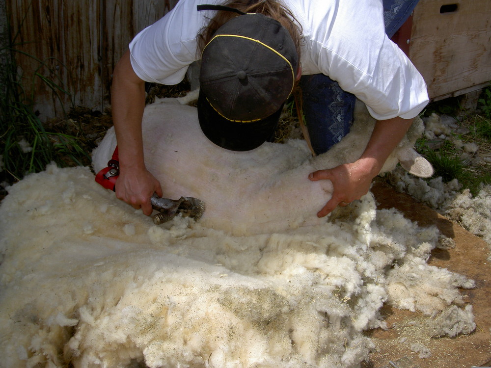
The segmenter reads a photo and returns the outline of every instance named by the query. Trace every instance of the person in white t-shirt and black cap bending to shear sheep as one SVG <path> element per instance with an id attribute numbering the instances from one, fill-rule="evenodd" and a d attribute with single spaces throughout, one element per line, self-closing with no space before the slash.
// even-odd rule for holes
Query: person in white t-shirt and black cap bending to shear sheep
<path id="1" fill-rule="evenodd" d="M 227 150 L 252 150 L 269 140 L 299 82 L 317 154 L 349 131 L 355 97 L 364 102 L 377 123 L 363 154 L 309 175 L 334 187 L 319 217 L 359 199 L 428 103 L 422 76 L 386 34 L 416 2 L 180 0 L 136 35 L 114 70 L 116 196 L 147 215 L 150 196 L 162 196 L 143 160 L 145 81 L 179 83 L 201 59 L 199 123 Z"/>

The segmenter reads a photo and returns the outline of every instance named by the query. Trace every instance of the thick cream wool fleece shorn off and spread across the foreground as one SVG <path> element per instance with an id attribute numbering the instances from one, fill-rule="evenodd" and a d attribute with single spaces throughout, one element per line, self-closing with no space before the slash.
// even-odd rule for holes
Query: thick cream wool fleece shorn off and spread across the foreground
<path id="1" fill-rule="evenodd" d="M 2 366 L 359 367 L 373 348 L 363 330 L 384 326 L 394 298 L 387 270 L 429 279 L 438 234 L 371 195 L 352 206 L 259 235 L 180 217 L 156 226 L 88 168 L 49 166 L 0 207 Z M 447 280 L 418 297 L 458 303 L 468 285 Z M 468 325 L 454 315 L 445 331 Z"/>

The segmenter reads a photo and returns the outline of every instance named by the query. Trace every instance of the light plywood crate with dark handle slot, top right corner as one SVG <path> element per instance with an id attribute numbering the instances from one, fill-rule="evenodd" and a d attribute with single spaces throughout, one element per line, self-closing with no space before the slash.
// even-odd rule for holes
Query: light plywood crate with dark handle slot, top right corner
<path id="1" fill-rule="evenodd" d="M 491 0 L 420 0 L 412 19 L 409 58 L 434 101 L 489 85 Z"/>

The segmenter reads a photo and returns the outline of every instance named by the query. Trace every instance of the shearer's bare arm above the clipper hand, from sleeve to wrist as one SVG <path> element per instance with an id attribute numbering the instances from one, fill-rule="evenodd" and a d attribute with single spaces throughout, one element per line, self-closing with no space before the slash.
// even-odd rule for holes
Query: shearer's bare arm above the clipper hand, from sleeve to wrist
<path id="1" fill-rule="evenodd" d="M 116 65 L 111 87 L 114 130 L 122 170 L 144 169 L 141 119 L 145 107 L 145 83 L 130 63 L 127 51 Z"/>

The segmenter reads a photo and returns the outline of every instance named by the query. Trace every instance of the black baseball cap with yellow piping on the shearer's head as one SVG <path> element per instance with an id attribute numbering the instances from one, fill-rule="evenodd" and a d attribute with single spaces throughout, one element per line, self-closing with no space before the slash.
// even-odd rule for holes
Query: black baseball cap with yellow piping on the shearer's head
<path id="1" fill-rule="evenodd" d="M 269 140 L 298 64 L 289 32 L 273 18 L 244 14 L 218 28 L 201 57 L 197 107 L 204 134 L 233 151 Z"/>

